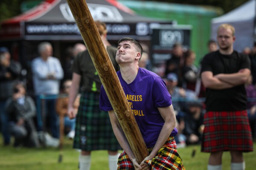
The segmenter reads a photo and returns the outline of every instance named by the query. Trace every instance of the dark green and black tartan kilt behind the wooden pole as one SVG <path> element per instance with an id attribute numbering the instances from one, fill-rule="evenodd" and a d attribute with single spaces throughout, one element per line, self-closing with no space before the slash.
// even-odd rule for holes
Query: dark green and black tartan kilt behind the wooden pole
<path id="1" fill-rule="evenodd" d="M 76 116 L 73 148 L 91 150 L 120 150 L 108 112 L 100 110 L 100 93 L 82 92 Z"/>

